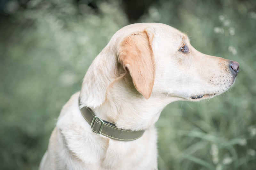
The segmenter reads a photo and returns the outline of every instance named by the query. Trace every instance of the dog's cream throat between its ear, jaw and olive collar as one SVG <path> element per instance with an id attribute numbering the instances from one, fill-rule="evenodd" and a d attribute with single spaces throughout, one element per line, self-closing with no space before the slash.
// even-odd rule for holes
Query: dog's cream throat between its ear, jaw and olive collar
<path id="1" fill-rule="evenodd" d="M 110 83 L 104 96 L 105 101 L 92 108 L 94 113 L 118 128 L 134 131 L 154 125 L 163 108 L 171 102 L 170 99 L 156 99 L 154 94 L 146 100 L 134 88 L 128 73 Z"/>

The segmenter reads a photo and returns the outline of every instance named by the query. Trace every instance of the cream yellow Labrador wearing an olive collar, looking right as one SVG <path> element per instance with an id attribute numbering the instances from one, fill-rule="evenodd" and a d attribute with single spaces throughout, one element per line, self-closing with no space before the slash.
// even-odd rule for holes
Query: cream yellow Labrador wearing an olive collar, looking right
<path id="1" fill-rule="evenodd" d="M 238 62 L 198 52 L 171 26 L 125 26 L 63 106 L 40 169 L 157 169 L 154 124 L 164 107 L 220 95 L 238 71 Z"/>

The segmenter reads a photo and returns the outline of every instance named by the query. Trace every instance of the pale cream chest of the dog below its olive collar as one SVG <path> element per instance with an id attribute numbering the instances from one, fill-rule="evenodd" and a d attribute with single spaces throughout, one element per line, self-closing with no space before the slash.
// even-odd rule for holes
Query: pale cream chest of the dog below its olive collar
<path id="1" fill-rule="evenodd" d="M 79 160 L 80 167 L 87 169 L 157 167 L 155 127 L 146 130 L 141 138 L 134 141 L 112 140 L 92 132 L 76 103 L 74 99 L 63 107 L 57 123 L 57 128 L 63 136 L 61 142 L 69 153 L 68 159 Z"/>

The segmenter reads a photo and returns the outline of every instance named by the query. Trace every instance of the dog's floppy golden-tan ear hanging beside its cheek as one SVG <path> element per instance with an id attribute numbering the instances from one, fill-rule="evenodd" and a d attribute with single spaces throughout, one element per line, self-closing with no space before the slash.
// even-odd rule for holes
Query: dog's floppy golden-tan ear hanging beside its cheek
<path id="1" fill-rule="evenodd" d="M 126 37 L 120 46 L 119 62 L 132 77 L 135 88 L 146 99 L 151 96 L 155 80 L 155 59 L 151 42 L 154 34 L 150 30 Z"/>

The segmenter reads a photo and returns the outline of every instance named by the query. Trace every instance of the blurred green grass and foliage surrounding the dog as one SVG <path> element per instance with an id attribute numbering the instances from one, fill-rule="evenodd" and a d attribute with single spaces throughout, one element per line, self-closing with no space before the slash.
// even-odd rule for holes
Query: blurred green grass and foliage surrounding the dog
<path id="1" fill-rule="evenodd" d="M 1 0 L 1 169 L 38 168 L 92 60 L 118 29 L 137 22 L 171 25 L 198 51 L 240 63 L 224 94 L 163 110 L 158 168 L 256 169 L 255 0 Z"/>

